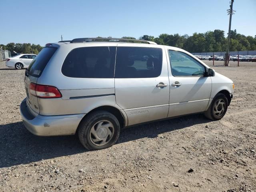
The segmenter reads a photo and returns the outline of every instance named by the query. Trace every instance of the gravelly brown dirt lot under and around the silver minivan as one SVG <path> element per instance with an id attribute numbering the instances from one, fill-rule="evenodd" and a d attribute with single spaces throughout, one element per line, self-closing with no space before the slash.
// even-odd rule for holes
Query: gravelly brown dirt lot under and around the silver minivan
<path id="1" fill-rule="evenodd" d="M 255 192 L 256 63 L 236 64 L 213 67 L 236 84 L 222 120 L 190 115 L 136 126 L 113 147 L 87 151 L 76 136 L 24 128 L 25 71 L 0 62 L 0 191 Z"/>

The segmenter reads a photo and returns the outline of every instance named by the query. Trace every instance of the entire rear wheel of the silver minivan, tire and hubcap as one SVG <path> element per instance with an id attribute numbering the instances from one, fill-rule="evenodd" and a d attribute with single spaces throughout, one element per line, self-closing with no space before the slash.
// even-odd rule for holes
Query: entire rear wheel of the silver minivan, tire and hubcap
<path id="1" fill-rule="evenodd" d="M 116 116 L 107 111 L 95 111 L 85 116 L 78 126 L 78 136 L 88 150 L 108 148 L 116 143 L 120 124 Z"/>

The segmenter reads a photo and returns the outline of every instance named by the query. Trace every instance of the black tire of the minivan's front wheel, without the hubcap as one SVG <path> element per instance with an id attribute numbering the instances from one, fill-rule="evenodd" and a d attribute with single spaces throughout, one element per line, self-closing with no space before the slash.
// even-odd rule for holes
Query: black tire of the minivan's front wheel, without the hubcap
<path id="1" fill-rule="evenodd" d="M 218 101 L 223 101 L 224 102 L 224 111 L 219 114 L 216 115 L 214 113 L 214 106 L 216 105 L 216 103 Z M 218 106 L 217 106 L 218 108 Z M 208 110 L 206 112 L 204 112 L 204 116 L 206 116 L 206 118 L 211 119 L 211 120 L 220 120 L 222 117 L 224 117 L 224 115 L 226 114 L 228 109 L 228 98 L 226 97 L 226 95 L 222 94 L 222 93 L 218 93 L 212 100 L 211 105 L 209 106 Z"/>

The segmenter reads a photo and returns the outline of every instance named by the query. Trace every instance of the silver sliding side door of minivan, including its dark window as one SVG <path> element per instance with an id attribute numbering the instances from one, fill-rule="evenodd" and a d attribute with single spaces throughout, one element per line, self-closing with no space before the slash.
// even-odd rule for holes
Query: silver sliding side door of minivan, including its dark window
<path id="1" fill-rule="evenodd" d="M 115 94 L 128 125 L 166 118 L 169 90 L 162 46 L 118 44 Z"/>

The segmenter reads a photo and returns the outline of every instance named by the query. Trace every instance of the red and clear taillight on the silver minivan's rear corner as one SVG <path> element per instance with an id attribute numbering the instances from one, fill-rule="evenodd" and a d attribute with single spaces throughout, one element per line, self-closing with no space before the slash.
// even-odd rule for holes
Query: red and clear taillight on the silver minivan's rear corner
<path id="1" fill-rule="evenodd" d="M 39 98 L 60 98 L 62 97 L 60 91 L 49 85 L 39 85 L 35 83 L 30 83 L 29 86 L 30 94 Z"/>

